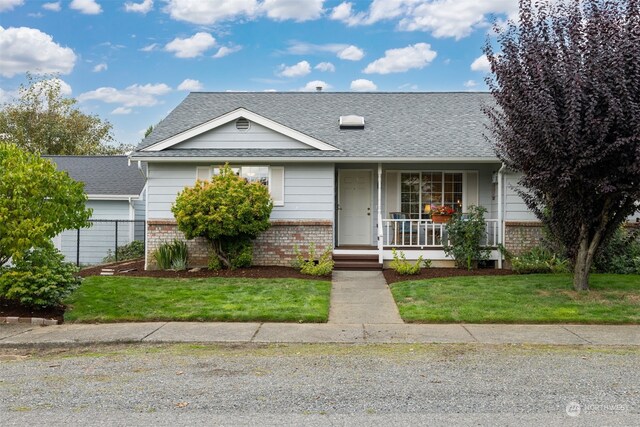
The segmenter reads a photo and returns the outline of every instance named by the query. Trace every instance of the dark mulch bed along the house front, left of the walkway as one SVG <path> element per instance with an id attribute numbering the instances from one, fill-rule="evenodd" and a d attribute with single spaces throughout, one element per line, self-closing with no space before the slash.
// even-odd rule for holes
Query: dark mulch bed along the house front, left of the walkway
<path id="1" fill-rule="evenodd" d="M 291 279 L 313 279 L 313 280 L 331 280 L 331 276 L 308 276 L 300 273 L 291 267 L 248 267 L 238 268 L 235 270 L 209 270 L 207 268 L 191 269 L 185 271 L 172 271 L 172 270 L 145 270 L 144 261 L 124 261 L 118 264 L 111 264 L 108 266 L 98 266 L 85 268 L 80 271 L 80 275 L 83 277 L 99 276 L 103 268 L 114 269 L 115 276 L 129 276 L 129 277 L 161 277 L 161 278 L 178 278 L 178 279 L 191 279 L 191 278 L 206 278 L 206 277 L 238 277 L 244 279 L 277 279 L 277 278 L 291 278 Z"/>

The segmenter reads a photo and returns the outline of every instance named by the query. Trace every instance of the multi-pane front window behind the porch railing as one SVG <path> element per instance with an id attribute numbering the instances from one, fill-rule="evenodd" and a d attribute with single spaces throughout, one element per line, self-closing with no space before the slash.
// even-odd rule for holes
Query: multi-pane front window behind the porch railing
<path id="1" fill-rule="evenodd" d="M 412 219 L 425 219 L 425 206 L 449 206 L 462 211 L 463 173 L 402 172 L 400 174 L 400 211 Z"/>

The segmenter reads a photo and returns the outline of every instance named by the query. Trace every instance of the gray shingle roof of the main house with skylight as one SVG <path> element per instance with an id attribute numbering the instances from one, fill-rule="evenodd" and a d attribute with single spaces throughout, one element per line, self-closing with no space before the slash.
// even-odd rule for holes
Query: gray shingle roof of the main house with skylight
<path id="1" fill-rule="evenodd" d="M 194 92 L 145 138 L 136 157 L 495 158 L 482 107 L 488 93 Z M 331 144 L 340 151 L 142 148 L 245 108 Z M 340 116 L 359 115 L 364 129 L 341 130 Z"/>

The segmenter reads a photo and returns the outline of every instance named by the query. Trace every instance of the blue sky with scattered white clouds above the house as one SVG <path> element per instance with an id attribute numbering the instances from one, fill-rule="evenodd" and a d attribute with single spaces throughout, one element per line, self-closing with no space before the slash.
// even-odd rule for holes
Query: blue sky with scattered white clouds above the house
<path id="1" fill-rule="evenodd" d="M 136 144 L 189 91 L 482 91 L 517 0 L 0 0 L 0 102 L 56 73 Z"/>

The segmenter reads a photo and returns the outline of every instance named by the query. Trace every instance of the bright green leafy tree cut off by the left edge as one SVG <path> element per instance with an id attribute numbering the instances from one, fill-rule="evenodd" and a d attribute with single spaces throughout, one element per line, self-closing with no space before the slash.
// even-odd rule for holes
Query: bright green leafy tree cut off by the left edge
<path id="1" fill-rule="evenodd" d="M 49 160 L 0 142 L 0 266 L 58 233 L 88 225 L 84 184 Z"/>

